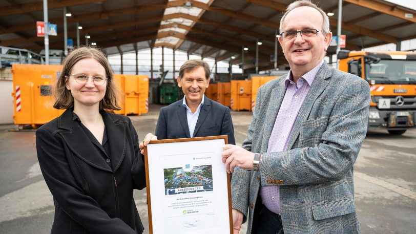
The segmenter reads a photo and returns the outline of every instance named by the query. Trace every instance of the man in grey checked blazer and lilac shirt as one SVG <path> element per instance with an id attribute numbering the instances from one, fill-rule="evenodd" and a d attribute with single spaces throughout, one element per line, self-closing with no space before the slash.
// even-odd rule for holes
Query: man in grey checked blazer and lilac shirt
<path id="1" fill-rule="evenodd" d="M 234 233 L 247 219 L 247 234 L 359 233 L 353 163 L 369 85 L 323 61 L 332 34 L 313 3 L 289 5 L 280 33 L 291 70 L 260 87 L 247 139 L 222 154 L 234 173 Z"/>

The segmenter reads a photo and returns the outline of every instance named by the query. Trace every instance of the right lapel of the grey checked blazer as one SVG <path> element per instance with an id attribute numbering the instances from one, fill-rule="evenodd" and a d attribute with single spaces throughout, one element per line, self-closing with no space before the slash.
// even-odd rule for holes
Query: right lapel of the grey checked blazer
<path id="1" fill-rule="evenodd" d="M 322 67 L 319 69 L 317 75 L 315 76 L 314 82 L 307 93 L 305 100 L 303 100 L 302 106 L 299 110 L 298 117 L 296 118 L 295 124 L 293 125 L 292 134 L 290 134 L 289 142 L 287 143 L 287 150 L 292 148 L 295 140 L 299 136 L 299 131 L 302 122 L 308 118 L 310 111 L 316 101 L 316 99 L 320 96 L 320 94 L 325 90 L 328 86 L 329 81 L 326 79 L 332 75 L 332 70 L 329 66 L 324 62 Z"/>

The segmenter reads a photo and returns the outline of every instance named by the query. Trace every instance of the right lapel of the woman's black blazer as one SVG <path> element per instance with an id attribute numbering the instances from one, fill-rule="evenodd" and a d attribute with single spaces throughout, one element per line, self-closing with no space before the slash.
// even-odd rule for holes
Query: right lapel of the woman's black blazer
<path id="1" fill-rule="evenodd" d="M 110 115 L 105 111 L 101 111 L 101 114 L 107 128 L 111 164 L 116 172 L 126 154 L 126 124 L 115 115 Z"/>

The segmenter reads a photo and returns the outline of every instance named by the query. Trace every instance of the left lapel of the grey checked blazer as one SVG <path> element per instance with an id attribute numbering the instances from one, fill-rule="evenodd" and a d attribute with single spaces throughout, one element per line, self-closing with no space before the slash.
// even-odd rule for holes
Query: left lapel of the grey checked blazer
<path id="1" fill-rule="evenodd" d="M 276 87 L 271 89 L 271 93 L 262 94 L 263 97 L 270 96 L 270 101 L 267 103 L 266 108 L 266 121 L 264 123 L 264 133 L 261 145 L 261 152 L 267 152 L 268 140 L 272 135 L 273 127 L 275 126 L 277 113 L 283 101 L 284 94 L 286 93 L 285 79 L 287 75 L 278 78 Z M 261 108 L 260 111 L 264 110 Z"/>

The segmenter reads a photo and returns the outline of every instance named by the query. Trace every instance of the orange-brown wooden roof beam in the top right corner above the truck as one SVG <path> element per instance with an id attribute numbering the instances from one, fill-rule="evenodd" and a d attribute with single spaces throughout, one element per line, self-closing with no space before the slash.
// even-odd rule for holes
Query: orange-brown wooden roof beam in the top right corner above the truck
<path id="1" fill-rule="evenodd" d="M 398 8 L 397 6 L 391 6 L 385 3 L 370 1 L 370 0 L 344 0 L 344 1 L 347 3 L 358 5 L 360 7 L 371 9 L 373 11 L 379 11 L 383 14 L 391 15 L 394 17 L 398 17 L 398 18 L 416 23 L 415 17 L 412 17 L 412 18 L 405 17 L 405 14 L 410 13 L 414 15 L 414 12 Z"/>

